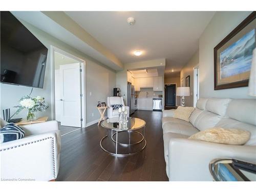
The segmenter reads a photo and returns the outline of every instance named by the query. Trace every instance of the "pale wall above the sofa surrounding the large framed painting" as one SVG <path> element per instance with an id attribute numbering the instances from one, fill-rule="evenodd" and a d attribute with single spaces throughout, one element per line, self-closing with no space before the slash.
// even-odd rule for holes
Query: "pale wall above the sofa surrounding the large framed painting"
<path id="1" fill-rule="evenodd" d="M 252 98 L 248 87 L 214 90 L 214 47 L 251 12 L 217 12 L 199 39 L 200 97 Z M 190 81 L 191 82 L 191 81 Z"/>

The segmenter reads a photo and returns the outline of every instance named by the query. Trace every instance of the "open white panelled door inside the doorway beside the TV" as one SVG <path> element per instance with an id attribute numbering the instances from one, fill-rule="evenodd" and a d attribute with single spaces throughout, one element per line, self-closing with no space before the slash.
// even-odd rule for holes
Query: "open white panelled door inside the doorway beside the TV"
<path id="1" fill-rule="evenodd" d="M 80 63 L 61 65 L 61 125 L 81 127 L 81 73 Z"/>

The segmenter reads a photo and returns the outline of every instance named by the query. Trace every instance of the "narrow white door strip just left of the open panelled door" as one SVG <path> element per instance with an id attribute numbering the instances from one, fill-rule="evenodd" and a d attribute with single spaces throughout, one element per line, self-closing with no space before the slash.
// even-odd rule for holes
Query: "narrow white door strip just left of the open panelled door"
<path id="1" fill-rule="evenodd" d="M 61 104 L 62 101 L 60 101 L 60 73 L 59 69 L 54 70 L 54 89 L 55 89 L 55 120 L 61 121 Z"/>

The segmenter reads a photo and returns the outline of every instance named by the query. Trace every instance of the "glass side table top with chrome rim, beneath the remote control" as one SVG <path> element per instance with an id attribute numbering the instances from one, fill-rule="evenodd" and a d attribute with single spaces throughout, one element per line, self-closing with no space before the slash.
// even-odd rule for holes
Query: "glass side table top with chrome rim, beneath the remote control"
<path id="1" fill-rule="evenodd" d="M 234 167 L 231 159 L 215 159 L 209 164 L 215 181 L 256 181 L 256 174 Z"/>

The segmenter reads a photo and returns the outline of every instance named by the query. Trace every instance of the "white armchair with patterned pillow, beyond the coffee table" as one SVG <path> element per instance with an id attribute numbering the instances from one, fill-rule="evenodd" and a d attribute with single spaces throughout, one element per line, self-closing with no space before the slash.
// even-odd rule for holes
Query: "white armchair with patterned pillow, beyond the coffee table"
<path id="1" fill-rule="evenodd" d="M 121 104 L 123 106 L 123 98 L 122 97 L 108 97 L 106 98 L 106 104 L 108 105 L 108 118 L 118 117 L 118 110 L 114 110 L 111 105 L 112 104 Z M 127 110 L 127 117 L 129 117 L 129 106 L 125 106 L 125 110 Z"/>

